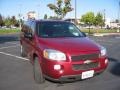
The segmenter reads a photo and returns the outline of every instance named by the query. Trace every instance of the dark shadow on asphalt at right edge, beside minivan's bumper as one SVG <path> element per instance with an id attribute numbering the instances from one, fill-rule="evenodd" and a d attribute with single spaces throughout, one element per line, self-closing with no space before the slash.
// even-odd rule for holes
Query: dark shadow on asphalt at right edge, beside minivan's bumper
<path id="1" fill-rule="evenodd" d="M 110 73 L 116 76 L 120 76 L 120 60 L 109 58 L 110 62 L 114 62 L 110 68 Z"/>

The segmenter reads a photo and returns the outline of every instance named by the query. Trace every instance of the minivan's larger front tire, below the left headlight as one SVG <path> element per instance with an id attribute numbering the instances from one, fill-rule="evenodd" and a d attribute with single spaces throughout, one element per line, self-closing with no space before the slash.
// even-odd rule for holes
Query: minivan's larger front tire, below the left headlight
<path id="1" fill-rule="evenodd" d="M 34 80 L 38 84 L 45 82 L 38 58 L 36 57 L 33 65 Z"/>

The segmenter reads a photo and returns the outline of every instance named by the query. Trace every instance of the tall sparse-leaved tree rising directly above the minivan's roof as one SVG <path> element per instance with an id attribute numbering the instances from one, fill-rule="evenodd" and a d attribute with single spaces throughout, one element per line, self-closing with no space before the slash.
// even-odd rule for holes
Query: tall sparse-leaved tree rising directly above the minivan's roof
<path id="1" fill-rule="evenodd" d="M 57 0 L 56 5 L 50 3 L 47 6 L 57 14 L 58 18 L 62 19 L 68 12 L 73 10 L 70 2 L 71 0 Z"/>

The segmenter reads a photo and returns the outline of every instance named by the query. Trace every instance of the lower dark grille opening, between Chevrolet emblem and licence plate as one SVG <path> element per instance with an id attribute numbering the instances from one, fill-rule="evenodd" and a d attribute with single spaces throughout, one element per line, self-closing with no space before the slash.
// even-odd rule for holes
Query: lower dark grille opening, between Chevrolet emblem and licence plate
<path id="1" fill-rule="evenodd" d="M 99 66 L 99 62 L 92 62 L 89 64 L 73 64 L 73 70 L 88 70 L 92 68 L 97 68 Z"/>

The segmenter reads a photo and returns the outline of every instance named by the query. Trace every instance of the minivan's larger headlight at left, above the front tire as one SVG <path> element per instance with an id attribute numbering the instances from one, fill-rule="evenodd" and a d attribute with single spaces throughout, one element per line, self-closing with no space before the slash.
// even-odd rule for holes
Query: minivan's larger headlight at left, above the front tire
<path id="1" fill-rule="evenodd" d="M 57 60 L 57 61 L 65 61 L 66 55 L 60 51 L 53 50 L 53 49 L 45 49 L 43 51 L 43 55 L 47 59 Z"/>

